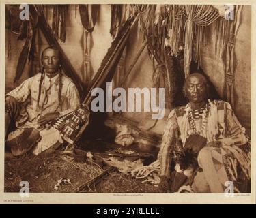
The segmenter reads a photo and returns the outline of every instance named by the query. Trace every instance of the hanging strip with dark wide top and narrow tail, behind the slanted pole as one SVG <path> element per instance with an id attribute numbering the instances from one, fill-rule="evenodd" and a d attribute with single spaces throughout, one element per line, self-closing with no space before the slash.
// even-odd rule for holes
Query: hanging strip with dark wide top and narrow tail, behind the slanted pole
<path id="1" fill-rule="evenodd" d="M 98 18 L 98 13 L 100 10 L 100 5 L 79 5 L 79 13 L 81 22 L 84 28 L 83 31 L 83 65 L 84 65 L 84 75 L 83 82 L 91 81 L 91 32 L 94 31 L 96 21 Z"/>

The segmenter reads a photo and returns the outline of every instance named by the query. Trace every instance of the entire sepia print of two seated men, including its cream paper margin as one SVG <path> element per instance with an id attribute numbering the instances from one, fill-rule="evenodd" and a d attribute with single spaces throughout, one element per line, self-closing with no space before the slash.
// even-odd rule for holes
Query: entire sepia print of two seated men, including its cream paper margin
<path id="1" fill-rule="evenodd" d="M 252 5 L 1 7 L 4 202 L 253 198 Z"/>

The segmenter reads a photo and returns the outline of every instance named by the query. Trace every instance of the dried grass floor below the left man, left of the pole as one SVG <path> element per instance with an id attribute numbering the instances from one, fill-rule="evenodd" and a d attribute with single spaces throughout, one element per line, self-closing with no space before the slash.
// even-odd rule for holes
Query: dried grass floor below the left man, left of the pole
<path id="1" fill-rule="evenodd" d="M 102 170 L 88 163 L 69 162 L 61 159 L 59 152 L 46 157 L 28 155 L 5 160 L 5 191 L 20 190 L 20 181 L 29 181 L 31 192 L 72 192 Z M 54 187 L 61 178 L 70 179 L 71 184 Z"/>

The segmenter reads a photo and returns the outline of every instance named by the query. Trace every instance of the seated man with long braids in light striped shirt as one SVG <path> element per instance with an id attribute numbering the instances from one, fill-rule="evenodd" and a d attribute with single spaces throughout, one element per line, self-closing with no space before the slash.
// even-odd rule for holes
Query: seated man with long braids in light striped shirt
<path id="1" fill-rule="evenodd" d="M 61 71 L 60 58 L 57 48 L 45 48 L 41 57 L 42 72 L 5 95 L 5 138 L 13 155 L 32 149 L 35 142 L 41 140 L 40 133 L 47 129 L 48 123 L 80 104 L 74 82 Z M 16 130 L 10 133 L 14 124 Z"/>

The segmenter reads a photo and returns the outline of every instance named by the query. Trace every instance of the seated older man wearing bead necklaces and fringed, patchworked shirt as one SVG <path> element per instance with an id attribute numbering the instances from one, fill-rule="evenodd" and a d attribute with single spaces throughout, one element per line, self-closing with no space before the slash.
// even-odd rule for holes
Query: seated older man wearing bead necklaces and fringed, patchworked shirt
<path id="1" fill-rule="evenodd" d="M 251 148 L 229 103 L 208 99 L 208 81 L 190 74 L 184 84 L 189 102 L 171 111 L 158 154 L 160 192 L 224 193 L 233 182 L 251 179 Z M 244 184 L 243 183 L 243 184 Z"/>

